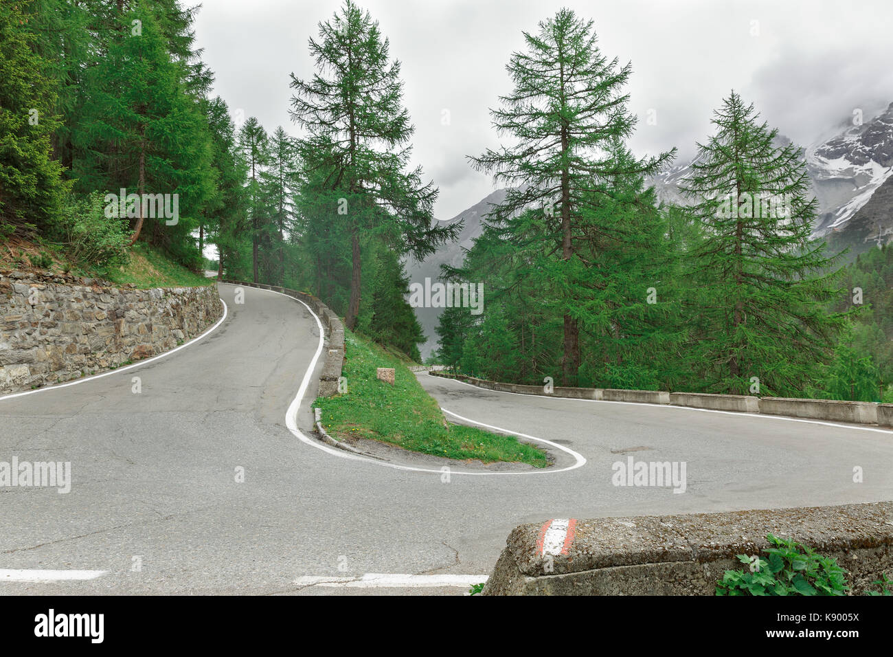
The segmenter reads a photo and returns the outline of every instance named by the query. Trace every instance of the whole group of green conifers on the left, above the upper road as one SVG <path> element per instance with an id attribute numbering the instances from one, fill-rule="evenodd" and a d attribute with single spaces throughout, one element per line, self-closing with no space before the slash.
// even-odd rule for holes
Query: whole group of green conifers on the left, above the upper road
<path id="1" fill-rule="evenodd" d="M 13 264 L 126 279 L 140 241 L 198 272 L 213 244 L 220 274 L 312 291 L 419 358 L 401 258 L 455 229 L 432 228 L 437 189 L 408 166 L 388 39 L 352 3 L 319 26 L 318 74 L 291 80 L 297 139 L 237 124 L 213 96 L 199 10 L 0 0 L 0 240 L 26 245 Z"/>

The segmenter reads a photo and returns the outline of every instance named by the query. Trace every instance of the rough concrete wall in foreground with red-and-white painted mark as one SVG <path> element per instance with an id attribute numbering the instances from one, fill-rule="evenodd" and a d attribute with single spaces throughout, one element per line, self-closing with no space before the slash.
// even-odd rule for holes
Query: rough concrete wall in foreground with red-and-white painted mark
<path id="1" fill-rule="evenodd" d="M 544 540 L 555 531 L 564 534 Z M 767 534 L 837 559 L 852 594 L 877 590 L 872 582 L 893 574 L 893 502 L 879 502 L 522 525 L 482 593 L 714 595 L 725 570 L 745 567 L 736 555 L 770 547 Z"/>

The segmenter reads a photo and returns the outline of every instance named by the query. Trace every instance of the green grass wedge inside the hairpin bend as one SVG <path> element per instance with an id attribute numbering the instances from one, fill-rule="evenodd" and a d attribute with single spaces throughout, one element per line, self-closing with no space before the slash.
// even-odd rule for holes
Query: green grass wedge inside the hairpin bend
<path id="1" fill-rule="evenodd" d="M 447 459 L 484 463 L 512 461 L 546 467 L 545 452 L 514 436 L 452 425 L 399 358 L 345 330 L 347 392 L 316 400 L 322 425 L 336 440 L 368 438 Z M 393 386 L 375 377 L 378 367 L 394 367 Z"/>

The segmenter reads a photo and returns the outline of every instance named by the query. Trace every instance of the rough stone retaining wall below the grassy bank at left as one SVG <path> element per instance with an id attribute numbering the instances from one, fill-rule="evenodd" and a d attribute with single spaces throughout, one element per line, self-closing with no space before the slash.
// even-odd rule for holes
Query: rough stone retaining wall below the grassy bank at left
<path id="1" fill-rule="evenodd" d="M 63 274 L 0 272 L 0 394 L 171 350 L 222 314 L 216 286 L 137 290 Z"/>

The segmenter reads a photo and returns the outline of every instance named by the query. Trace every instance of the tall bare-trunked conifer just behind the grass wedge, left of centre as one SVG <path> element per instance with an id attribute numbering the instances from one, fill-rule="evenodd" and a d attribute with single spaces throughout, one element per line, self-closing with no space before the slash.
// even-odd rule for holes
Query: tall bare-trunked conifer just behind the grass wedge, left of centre
<path id="1" fill-rule="evenodd" d="M 320 173 L 327 189 L 343 192 L 330 212 L 333 220 L 343 217 L 350 239 L 346 325 L 353 329 L 360 313 L 363 234 L 392 224 L 387 237 L 393 248 L 421 259 L 454 239 L 458 228 L 434 222 L 437 190 L 421 183 L 421 167 L 407 169 L 413 126 L 402 105 L 400 63 L 390 61 L 378 23 L 346 0 L 319 28 L 320 40 L 310 39 L 317 72 L 309 80 L 291 76 L 291 115 L 306 133 L 299 142 L 305 169 Z"/>

